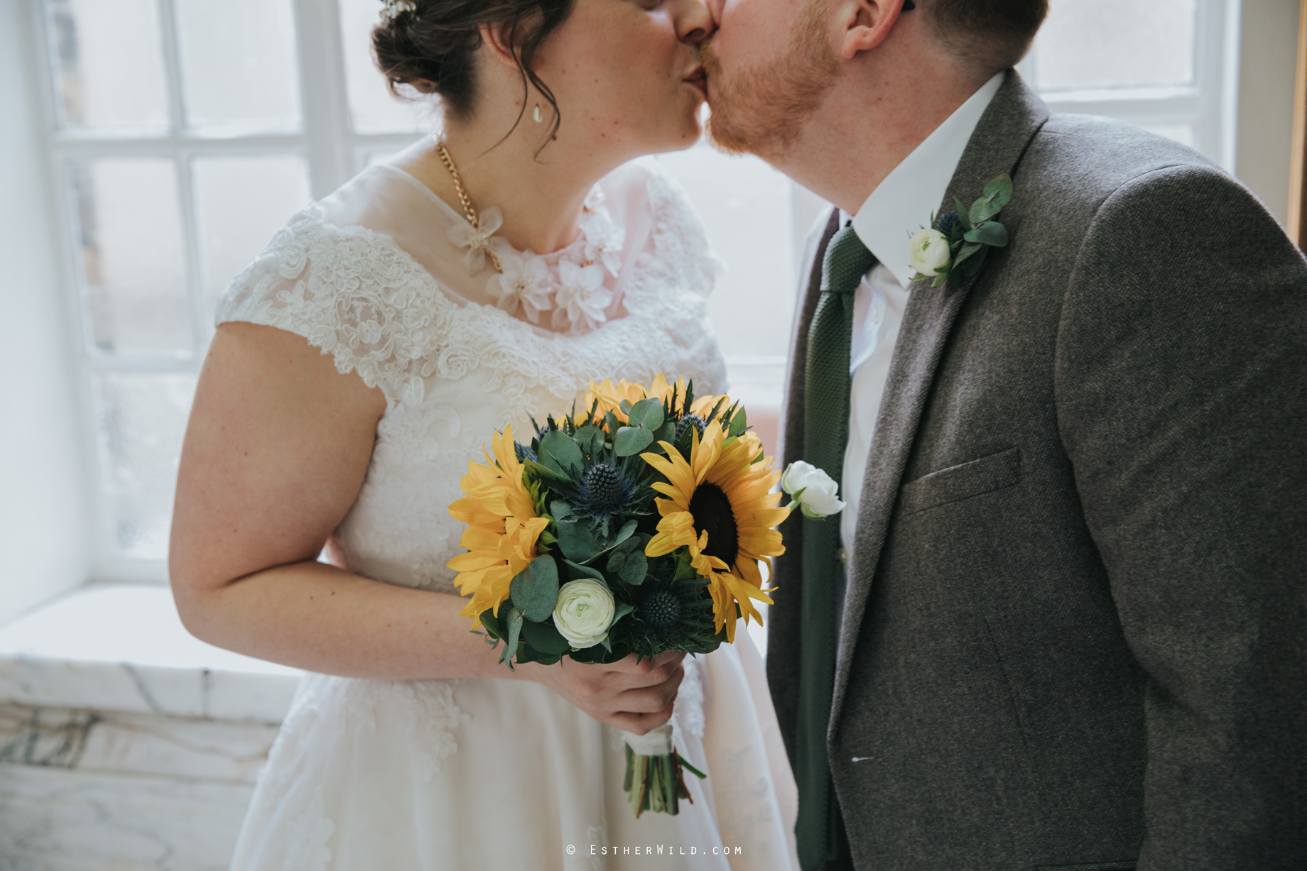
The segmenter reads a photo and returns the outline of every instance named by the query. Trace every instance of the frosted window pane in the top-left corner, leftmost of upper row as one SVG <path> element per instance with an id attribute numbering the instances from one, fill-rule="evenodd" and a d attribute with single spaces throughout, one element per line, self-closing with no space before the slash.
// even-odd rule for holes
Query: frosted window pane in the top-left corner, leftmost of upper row
<path id="1" fill-rule="evenodd" d="M 157 0 L 46 0 L 46 13 L 64 127 L 167 132 Z"/>

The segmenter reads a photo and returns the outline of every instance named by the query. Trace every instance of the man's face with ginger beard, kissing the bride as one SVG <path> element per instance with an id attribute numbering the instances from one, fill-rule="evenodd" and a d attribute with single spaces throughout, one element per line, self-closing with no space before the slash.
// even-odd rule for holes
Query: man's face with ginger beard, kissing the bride
<path id="1" fill-rule="evenodd" d="M 714 0 L 718 31 L 701 43 L 708 135 L 728 151 L 779 159 L 834 84 L 830 0 Z"/>

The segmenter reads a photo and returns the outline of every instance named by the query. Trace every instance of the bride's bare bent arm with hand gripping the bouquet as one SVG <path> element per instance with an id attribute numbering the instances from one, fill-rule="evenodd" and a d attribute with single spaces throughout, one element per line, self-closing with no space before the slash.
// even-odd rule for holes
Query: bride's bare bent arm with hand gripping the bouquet
<path id="1" fill-rule="evenodd" d="M 681 654 L 510 673 L 447 593 L 316 562 L 354 503 L 386 410 L 294 333 L 223 324 L 182 449 L 169 571 L 182 622 L 229 650 L 359 678 L 537 680 L 629 731 L 668 720 Z"/>

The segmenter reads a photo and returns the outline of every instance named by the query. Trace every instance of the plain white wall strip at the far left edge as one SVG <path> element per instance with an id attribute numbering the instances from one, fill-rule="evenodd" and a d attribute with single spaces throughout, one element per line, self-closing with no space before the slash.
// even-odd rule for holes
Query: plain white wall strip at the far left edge
<path id="1" fill-rule="evenodd" d="M 0 620 L 86 576 L 77 388 L 30 73 L 37 8 L 0 0 Z"/>

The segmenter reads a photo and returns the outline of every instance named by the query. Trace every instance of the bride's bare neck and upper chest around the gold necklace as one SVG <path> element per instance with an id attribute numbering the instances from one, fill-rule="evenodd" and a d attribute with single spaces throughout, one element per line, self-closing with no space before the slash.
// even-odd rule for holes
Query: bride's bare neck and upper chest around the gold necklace
<path id="1" fill-rule="evenodd" d="M 548 108 L 542 108 L 548 112 Z M 508 124 L 446 124 L 444 144 L 459 170 L 463 188 L 480 213 L 499 206 L 503 227 L 499 235 L 519 251 L 549 253 L 574 242 L 586 195 L 620 161 L 572 142 L 561 131 L 549 145 L 536 151 L 549 129 L 535 123 L 528 111 L 518 127 L 503 138 Z M 502 140 L 502 141 L 501 141 Z M 463 212 L 454 179 L 434 142 L 417 157 L 420 178 L 456 210 Z"/>

